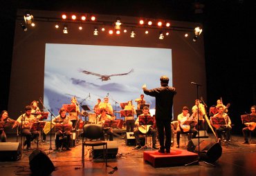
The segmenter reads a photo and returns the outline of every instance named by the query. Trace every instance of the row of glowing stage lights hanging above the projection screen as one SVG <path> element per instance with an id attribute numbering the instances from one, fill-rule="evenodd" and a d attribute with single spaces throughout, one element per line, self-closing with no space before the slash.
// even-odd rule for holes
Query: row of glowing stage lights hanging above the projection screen
<path id="1" fill-rule="evenodd" d="M 69 20 L 69 21 L 67 21 L 67 20 Z M 82 23 L 83 22 L 85 22 L 85 21 L 95 22 L 96 17 L 95 17 L 95 15 L 90 15 L 90 16 L 82 15 L 80 17 L 80 19 L 77 19 L 77 16 L 75 14 L 72 14 L 71 19 L 68 19 L 66 14 L 62 14 L 62 23 L 64 23 L 62 31 L 63 31 L 64 34 L 68 34 L 68 26 L 65 22 L 70 23 L 70 20 L 80 22 L 80 24 L 78 26 L 78 29 L 82 30 Z M 32 27 L 35 26 L 34 17 L 30 12 L 26 12 L 24 14 L 24 21 L 25 21 L 26 25 L 29 25 L 29 26 L 32 26 Z M 20 26 L 24 31 L 28 30 L 26 25 L 24 25 L 24 23 L 20 23 Z M 96 23 L 95 25 L 100 25 L 100 24 Z M 109 26 L 111 26 L 111 28 L 109 28 L 109 30 L 108 30 L 109 35 L 113 35 L 114 33 L 116 33 L 116 35 L 120 35 L 121 31 L 124 32 L 124 33 L 127 33 L 127 29 L 121 30 L 122 22 L 121 22 L 121 19 L 119 17 L 116 19 L 116 21 L 114 23 L 111 23 L 111 25 L 109 25 Z M 131 38 L 136 37 L 136 32 L 133 29 L 136 26 L 141 27 L 141 28 L 145 28 L 145 35 L 149 34 L 149 29 L 150 28 L 159 29 L 160 32 L 159 32 L 158 39 L 164 39 L 165 36 L 170 35 L 170 32 L 168 32 L 168 30 L 170 30 L 170 26 L 171 26 L 170 22 L 157 21 L 154 24 L 154 22 L 150 19 L 149 20 L 140 19 L 138 21 L 138 24 L 134 24 L 134 26 L 131 27 L 132 28 L 131 33 L 130 33 Z M 60 25 L 56 23 L 55 28 L 60 28 Z M 101 30 L 101 32 L 104 32 L 106 30 L 105 27 L 104 27 L 104 23 L 102 24 L 102 27 L 100 28 L 100 30 Z M 97 27 L 95 27 L 94 30 L 93 30 L 93 35 L 98 36 L 100 30 Z M 163 31 L 166 31 L 166 32 L 163 32 Z M 201 28 L 199 28 L 199 27 L 194 28 L 193 41 L 196 41 L 196 39 L 199 37 L 199 35 L 201 35 L 201 32 L 202 32 Z M 188 33 L 186 33 L 184 36 L 188 37 Z"/>

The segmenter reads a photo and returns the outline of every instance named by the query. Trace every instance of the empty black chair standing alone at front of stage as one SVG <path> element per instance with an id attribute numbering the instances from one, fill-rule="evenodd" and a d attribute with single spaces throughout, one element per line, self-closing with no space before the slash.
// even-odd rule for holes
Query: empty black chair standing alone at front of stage
<path id="1" fill-rule="evenodd" d="M 107 167 L 107 141 L 102 141 L 104 137 L 103 126 L 100 124 L 85 124 L 82 135 L 82 166 L 84 168 L 84 146 L 103 146 L 103 158 Z"/>

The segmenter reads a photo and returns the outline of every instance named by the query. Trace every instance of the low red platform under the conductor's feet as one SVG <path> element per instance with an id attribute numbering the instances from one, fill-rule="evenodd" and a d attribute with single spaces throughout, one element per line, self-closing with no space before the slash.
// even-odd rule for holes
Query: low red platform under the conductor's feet
<path id="1" fill-rule="evenodd" d="M 199 159 L 197 153 L 188 152 L 187 150 L 171 149 L 171 153 L 158 153 L 150 150 L 143 153 L 144 162 L 149 162 L 154 168 L 181 166 L 195 162 Z"/>

